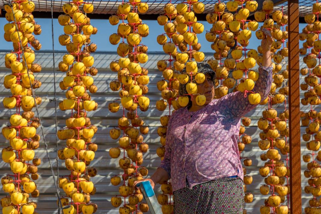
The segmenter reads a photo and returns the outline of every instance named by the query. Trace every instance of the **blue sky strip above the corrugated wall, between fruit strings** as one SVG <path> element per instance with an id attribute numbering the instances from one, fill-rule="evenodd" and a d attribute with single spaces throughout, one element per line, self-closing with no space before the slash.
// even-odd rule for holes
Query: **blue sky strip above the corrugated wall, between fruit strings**
<path id="1" fill-rule="evenodd" d="M 37 19 L 35 20 L 41 25 L 42 33 L 36 35 L 35 37 L 39 39 L 42 48 L 41 50 L 52 50 L 52 39 L 51 39 L 51 19 Z M 214 52 L 211 49 L 210 42 L 205 39 L 205 30 L 210 30 L 212 24 L 206 21 L 201 21 L 204 24 L 204 32 L 198 34 L 198 42 L 201 43 L 203 52 Z M 5 18 L 0 18 L 0 25 L 3 26 L 8 23 Z M 144 21 L 145 24 L 149 26 L 149 35 L 143 38 L 143 44 L 148 46 L 149 51 L 162 51 L 162 47 L 156 42 L 156 37 L 164 33 L 163 26 L 160 26 L 155 20 Z M 117 25 L 112 26 L 109 21 L 101 19 L 91 19 L 91 24 L 97 27 L 98 32 L 91 36 L 91 41 L 97 44 L 98 51 L 116 51 L 117 46 L 111 45 L 109 43 L 109 35 L 117 32 Z M 300 24 L 300 30 L 303 28 L 303 24 Z M 4 32 L 4 31 L 2 31 Z M 59 35 L 64 33 L 64 28 L 58 23 L 57 19 L 54 19 L 54 38 L 55 38 L 55 50 L 66 50 L 64 46 L 61 46 L 58 42 Z M 3 33 L 1 34 L 3 35 Z M 260 44 L 260 40 L 256 39 L 255 33 L 252 32 L 252 37 L 250 39 L 249 49 L 256 49 Z M 4 40 L 3 36 L 0 38 L 0 49 L 13 49 L 12 43 Z M 302 42 L 300 42 L 300 47 Z"/>

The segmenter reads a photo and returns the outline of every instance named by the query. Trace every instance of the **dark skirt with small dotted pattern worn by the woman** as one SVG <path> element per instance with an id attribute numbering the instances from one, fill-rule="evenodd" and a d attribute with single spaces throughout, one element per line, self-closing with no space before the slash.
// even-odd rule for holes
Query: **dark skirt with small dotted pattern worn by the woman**
<path id="1" fill-rule="evenodd" d="M 185 187 L 173 194 L 174 214 L 243 214 L 244 188 L 239 177 Z"/>

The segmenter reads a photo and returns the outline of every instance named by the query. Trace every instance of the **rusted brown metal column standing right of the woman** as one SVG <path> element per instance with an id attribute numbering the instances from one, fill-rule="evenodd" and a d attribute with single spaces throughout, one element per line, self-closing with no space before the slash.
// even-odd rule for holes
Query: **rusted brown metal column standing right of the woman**
<path id="1" fill-rule="evenodd" d="M 299 0 L 288 0 L 289 31 L 289 131 L 290 131 L 290 210 L 302 213 L 301 142 L 299 82 Z"/>

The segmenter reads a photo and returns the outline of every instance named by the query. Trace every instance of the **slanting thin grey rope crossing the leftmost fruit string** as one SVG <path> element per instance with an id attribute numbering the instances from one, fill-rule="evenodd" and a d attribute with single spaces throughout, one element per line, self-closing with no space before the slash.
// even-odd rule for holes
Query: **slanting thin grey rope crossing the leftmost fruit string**
<path id="1" fill-rule="evenodd" d="M 16 17 L 14 16 L 14 10 L 13 10 L 13 6 L 12 6 L 12 4 L 11 4 L 11 1 L 9 1 L 9 5 L 10 5 L 11 10 L 12 10 L 12 12 L 13 12 L 13 18 L 14 18 L 14 23 L 15 23 L 16 29 L 19 29 L 19 28 L 18 28 L 18 25 L 17 25 Z M 22 47 L 22 41 L 21 41 L 21 37 L 20 37 L 20 36 L 19 36 L 19 43 L 20 43 L 20 46 Z M 26 63 L 26 58 L 25 58 L 25 56 L 24 56 L 24 50 L 23 50 L 23 48 L 22 48 L 22 59 L 23 59 L 23 62 L 25 63 L 25 66 L 26 66 L 26 68 L 27 68 L 27 74 L 28 74 L 28 78 L 29 78 L 29 82 L 30 82 L 30 86 L 31 86 L 30 88 L 31 88 L 31 91 L 32 91 L 32 97 L 33 97 L 33 99 L 34 99 L 34 101 L 35 101 L 36 112 L 37 112 L 37 116 L 38 116 L 38 118 L 39 118 L 41 135 L 42 135 L 43 141 L 44 141 L 44 143 L 45 143 L 45 149 L 46 149 L 46 153 L 47 153 L 47 158 L 48 158 L 48 161 L 49 161 L 52 178 L 53 178 L 53 180 L 54 180 L 55 187 L 56 187 L 56 193 L 57 193 L 57 196 L 58 196 L 59 213 L 61 213 L 60 210 L 61 210 L 62 204 L 61 204 L 61 201 L 60 201 L 59 190 L 58 190 L 58 186 L 57 186 L 56 179 L 55 179 L 54 169 L 53 169 L 53 167 L 52 167 L 51 160 L 50 160 L 50 157 L 49 157 L 48 144 L 47 144 L 47 141 L 46 141 L 46 139 L 45 139 L 45 134 L 44 134 L 44 132 L 43 132 L 43 126 L 42 126 L 41 119 L 40 119 L 40 116 L 39 116 L 38 105 L 37 105 L 37 102 L 36 102 L 34 90 L 33 90 L 33 88 L 32 88 L 32 83 L 31 83 L 31 79 L 30 79 L 30 75 L 29 75 L 29 68 L 28 68 L 27 63 Z"/>

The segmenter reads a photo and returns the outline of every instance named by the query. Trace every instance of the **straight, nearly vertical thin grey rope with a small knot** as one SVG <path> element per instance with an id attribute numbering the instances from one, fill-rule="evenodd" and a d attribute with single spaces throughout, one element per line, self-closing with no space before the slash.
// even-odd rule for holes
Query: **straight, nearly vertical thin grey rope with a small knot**
<path id="1" fill-rule="evenodd" d="M 52 62 L 53 62 L 53 72 L 54 72 L 54 103 L 55 103 L 55 130 L 57 133 L 57 103 L 56 103 L 56 73 L 55 73 L 55 42 L 54 42 L 54 15 L 53 15 L 53 4 L 52 4 L 52 0 L 50 1 L 51 3 L 51 37 L 52 37 Z M 57 135 L 56 136 L 56 153 L 57 153 L 57 157 L 56 157 L 56 162 L 57 162 L 57 185 L 59 185 L 59 163 L 58 163 L 58 138 Z M 58 193 L 59 193 L 59 189 L 58 189 Z M 59 213 L 60 213 L 60 207 L 59 207 Z"/>

